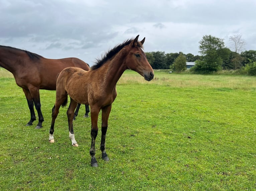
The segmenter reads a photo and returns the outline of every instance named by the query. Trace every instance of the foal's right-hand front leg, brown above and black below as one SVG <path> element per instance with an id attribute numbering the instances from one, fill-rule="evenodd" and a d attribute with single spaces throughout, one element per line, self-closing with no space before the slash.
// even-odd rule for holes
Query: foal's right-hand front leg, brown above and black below
<path id="1" fill-rule="evenodd" d="M 101 152 L 102 158 L 105 161 L 109 161 L 109 157 L 106 153 L 106 133 L 108 129 L 108 118 L 112 105 L 108 105 L 101 109 L 102 111 L 102 124 L 101 124 Z"/>

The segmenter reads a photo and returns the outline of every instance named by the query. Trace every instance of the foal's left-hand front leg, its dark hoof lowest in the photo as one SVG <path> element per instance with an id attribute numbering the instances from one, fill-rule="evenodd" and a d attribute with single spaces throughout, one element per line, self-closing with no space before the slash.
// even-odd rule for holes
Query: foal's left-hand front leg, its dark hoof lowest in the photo
<path id="1" fill-rule="evenodd" d="M 95 158 L 95 140 L 98 135 L 98 116 L 99 116 L 100 108 L 98 106 L 91 106 L 91 123 L 92 123 L 92 129 L 91 129 L 91 137 L 92 137 L 92 143 L 91 143 L 91 149 L 90 149 L 90 155 L 91 155 L 91 166 L 98 167 L 98 162 Z"/>

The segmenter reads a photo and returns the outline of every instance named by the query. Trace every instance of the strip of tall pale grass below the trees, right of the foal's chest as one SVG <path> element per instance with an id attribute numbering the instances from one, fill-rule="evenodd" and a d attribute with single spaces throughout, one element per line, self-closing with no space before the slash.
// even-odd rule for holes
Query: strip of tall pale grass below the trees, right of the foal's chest
<path id="1" fill-rule="evenodd" d="M 251 90 L 256 87 L 255 77 L 225 76 L 225 75 L 196 75 L 156 73 L 152 82 L 145 81 L 139 74 L 127 71 L 118 84 L 156 84 L 172 88 L 231 88 Z"/>

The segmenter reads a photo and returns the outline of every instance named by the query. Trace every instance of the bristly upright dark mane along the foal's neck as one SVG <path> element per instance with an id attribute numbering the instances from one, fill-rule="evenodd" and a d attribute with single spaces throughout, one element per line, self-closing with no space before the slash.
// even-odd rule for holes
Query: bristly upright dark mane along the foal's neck
<path id="1" fill-rule="evenodd" d="M 122 44 L 116 45 L 113 49 L 109 50 L 101 59 L 96 59 L 95 65 L 91 67 L 91 70 L 95 70 L 100 68 L 104 63 L 107 62 L 110 58 L 115 56 L 122 48 L 129 45 L 134 39 L 128 39 L 124 41 Z M 143 48 L 142 44 L 138 41 L 138 47 Z"/>

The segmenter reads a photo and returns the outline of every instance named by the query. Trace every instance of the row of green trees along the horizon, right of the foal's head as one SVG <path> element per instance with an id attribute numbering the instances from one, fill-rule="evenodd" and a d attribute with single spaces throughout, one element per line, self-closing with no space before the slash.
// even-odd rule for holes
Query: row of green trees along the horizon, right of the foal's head
<path id="1" fill-rule="evenodd" d="M 153 69 L 172 69 L 177 72 L 186 70 L 186 62 L 195 62 L 190 69 L 197 74 L 210 74 L 219 70 L 245 70 L 250 75 L 256 75 L 256 51 L 243 51 L 245 41 L 242 35 L 234 35 L 229 38 L 232 50 L 227 48 L 224 39 L 211 35 L 203 36 L 199 42 L 199 53 L 165 53 L 146 52 L 148 62 Z"/>

